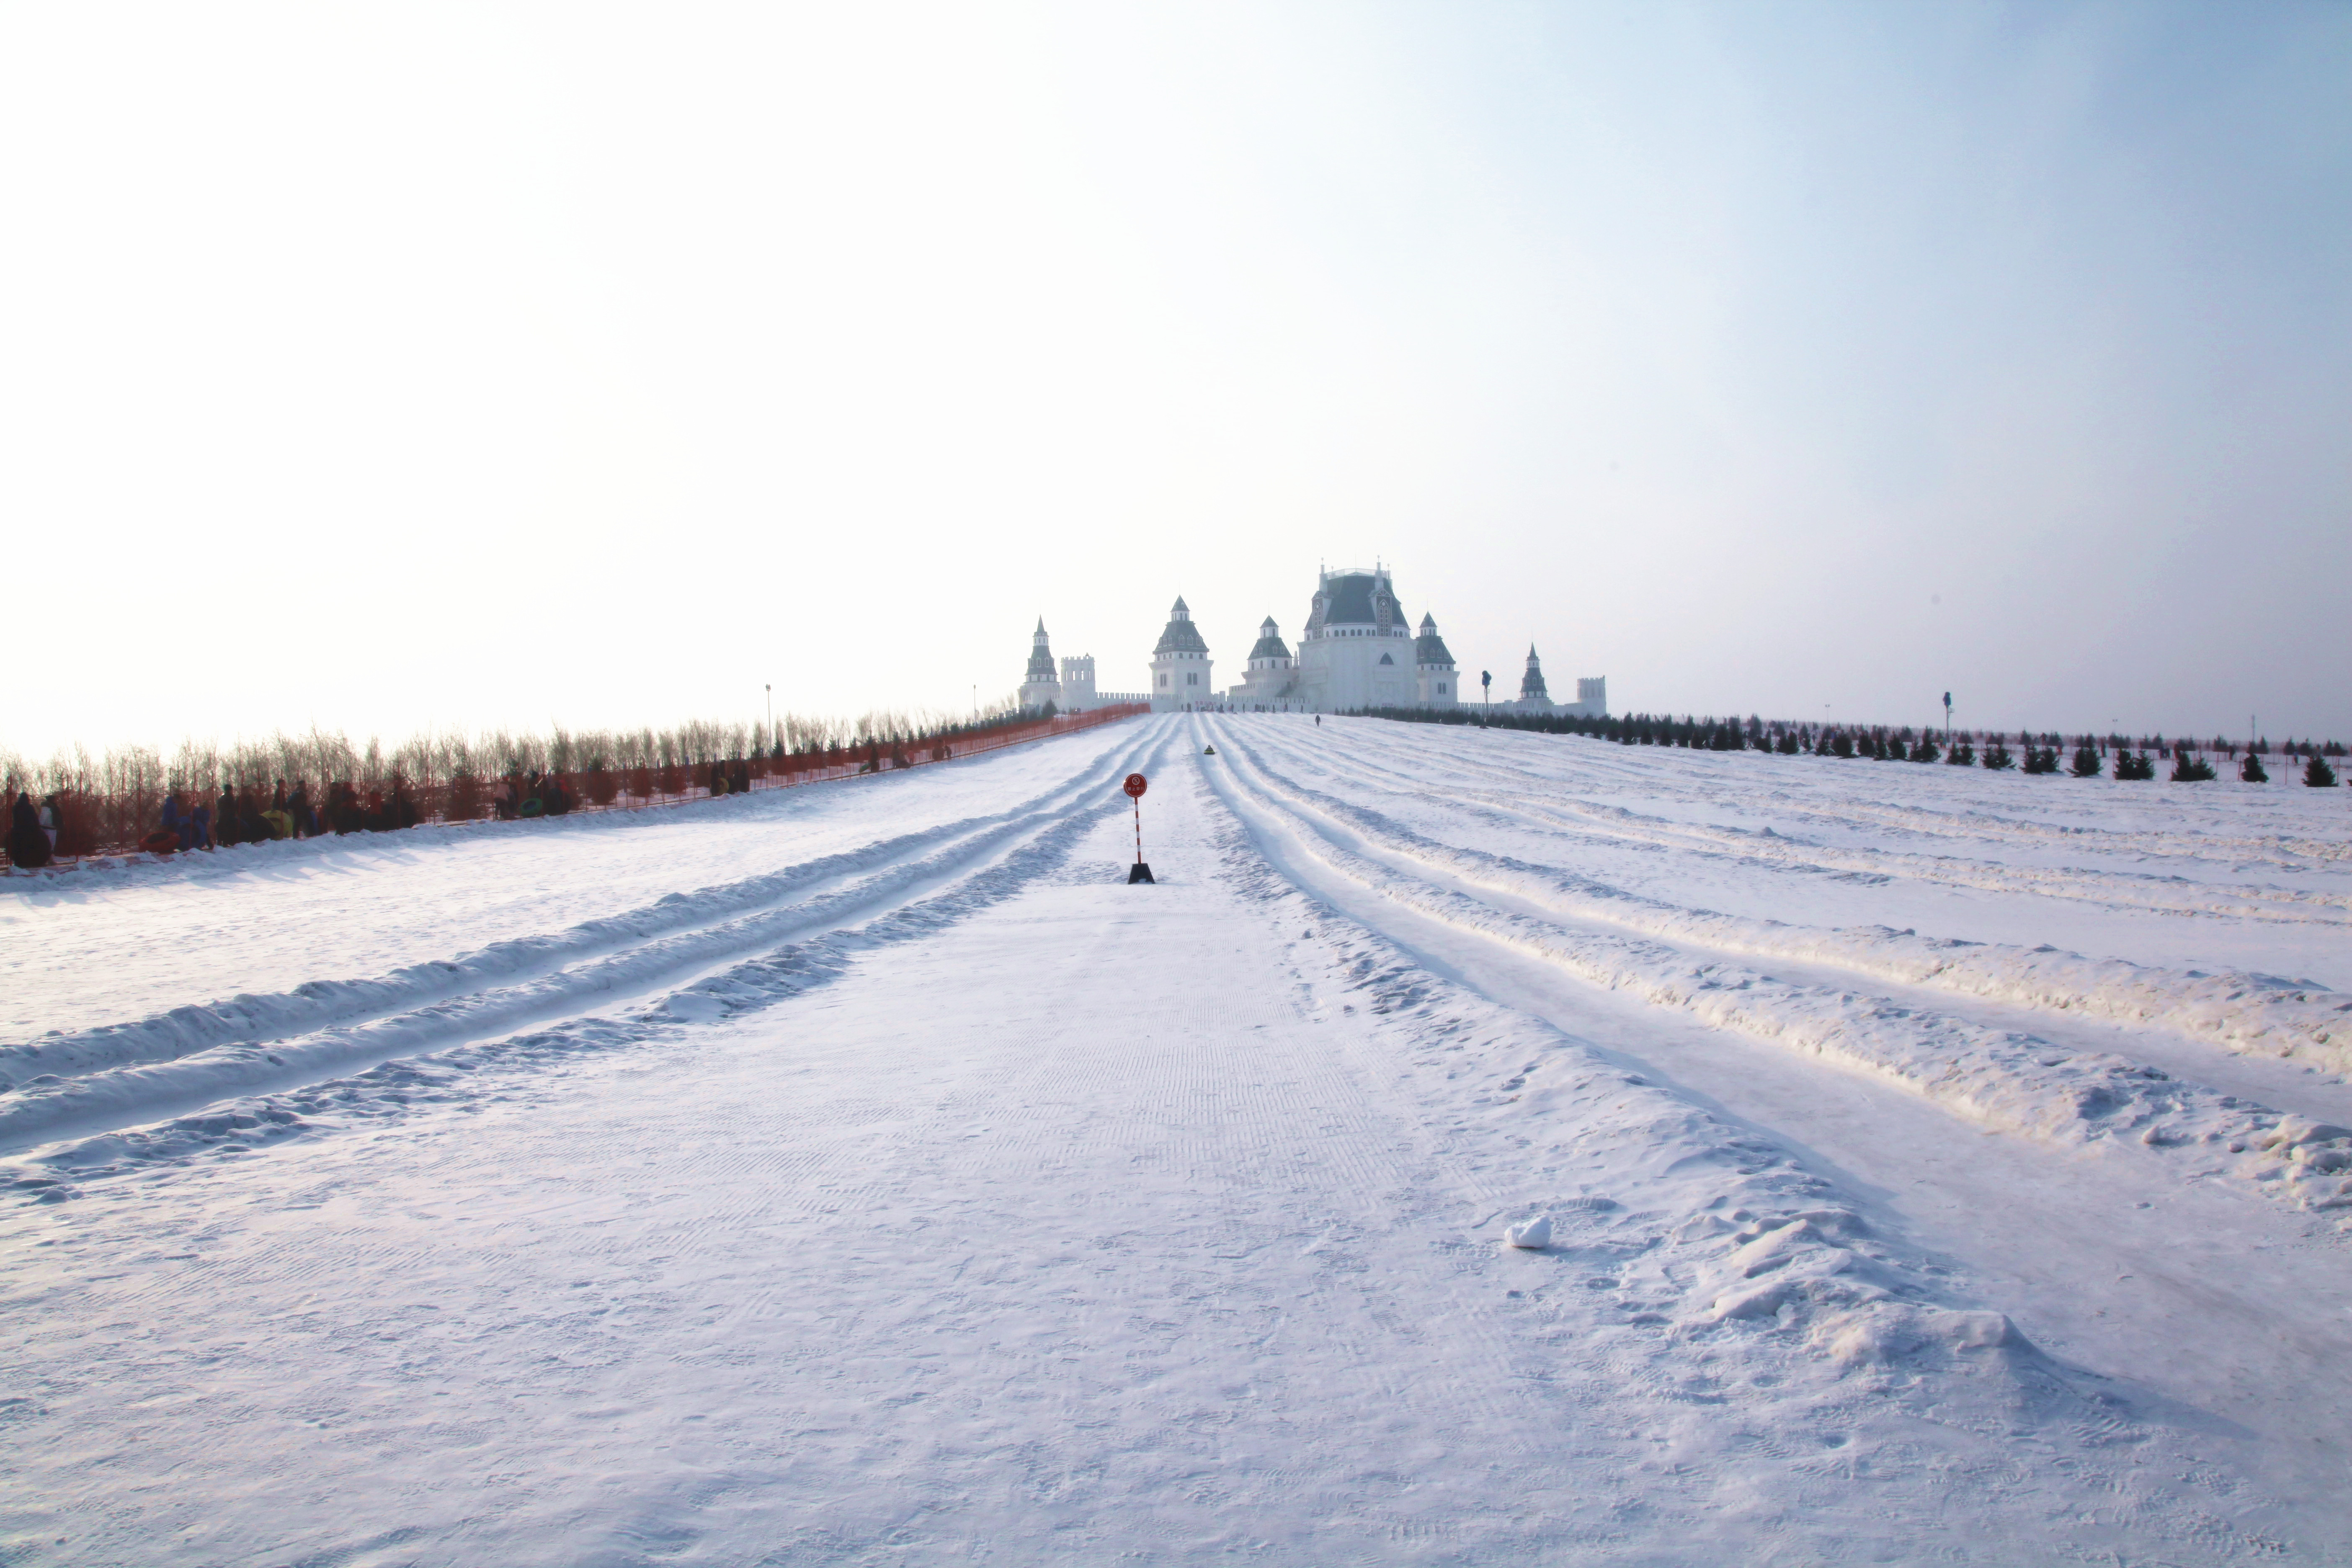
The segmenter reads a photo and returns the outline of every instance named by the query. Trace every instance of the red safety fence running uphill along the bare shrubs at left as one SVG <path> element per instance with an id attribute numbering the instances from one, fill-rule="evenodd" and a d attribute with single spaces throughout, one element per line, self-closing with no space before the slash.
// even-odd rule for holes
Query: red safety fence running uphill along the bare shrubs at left
<path id="1" fill-rule="evenodd" d="M 1120 719 L 1131 719 L 1141 712 L 1150 712 L 1150 703 L 1115 703 L 1091 712 L 1065 712 L 1051 719 L 1018 719 L 1011 724 L 993 724 L 988 729 L 936 738 L 917 736 L 913 741 L 868 741 L 861 745 L 830 745 L 826 750 L 788 752 L 783 757 L 727 757 L 710 762 L 675 762 L 668 766 L 539 773 L 539 778 L 560 780 L 562 795 L 569 797 L 560 811 L 548 816 L 569 816 L 576 811 L 644 811 L 649 806 L 677 806 L 694 799 L 710 799 L 715 795 L 746 795 L 755 790 L 786 790 L 811 783 L 873 778 L 880 773 L 924 766 L 929 762 L 955 762 L 960 757 L 1000 752 L 1009 745 L 1028 745 L 1030 741 L 1073 736 L 1082 729 L 1117 724 Z M 428 823 L 482 820 L 499 813 L 496 797 L 501 785 L 515 790 L 520 809 L 520 799 L 529 788 L 529 780 L 520 776 L 482 778 L 461 773 L 447 783 L 430 785 L 409 785 L 395 778 L 390 795 L 374 790 L 365 799 L 353 792 L 346 799 L 355 816 L 346 816 L 343 820 L 348 820 L 353 830 L 365 832 L 416 827 Z M 193 797 L 183 797 L 183 804 L 193 806 L 195 802 Z M 214 806 L 214 799 L 207 797 L 205 804 Z M 325 780 L 325 785 L 310 797 L 310 806 L 318 811 L 322 830 L 332 830 L 334 804 L 336 785 Z M 141 842 L 155 832 L 162 820 L 162 790 L 134 790 L 122 795 L 66 790 L 54 797 L 54 809 L 56 863 L 71 867 L 92 858 L 141 853 Z M 259 797 L 252 790 L 240 792 L 240 811 L 268 820 L 268 797 Z M 280 827 L 280 823 L 270 823 L 270 827 Z M 214 825 L 214 830 L 219 830 L 219 825 Z"/>

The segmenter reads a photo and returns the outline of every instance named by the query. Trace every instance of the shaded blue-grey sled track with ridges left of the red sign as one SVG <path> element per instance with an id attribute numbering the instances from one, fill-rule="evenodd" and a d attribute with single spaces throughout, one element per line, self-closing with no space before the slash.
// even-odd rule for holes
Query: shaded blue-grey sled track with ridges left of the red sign
<path id="1" fill-rule="evenodd" d="M 19 1060 L 31 1058 L 26 1065 L 99 1065 L 0 1095 L 0 1154 L 59 1138 L 94 1147 L 89 1140 L 113 1128 L 191 1112 L 226 1095 L 266 1095 L 369 1063 L 612 1011 L 720 973 L 743 954 L 870 924 L 917 903 L 953 905 L 962 882 L 985 877 L 1065 818 L 1091 818 L 1103 778 L 1136 766 L 1148 750 L 1157 755 L 1155 741 L 1131 733 L 1108 762 L 1089 762 L 1077 776 L 1009 811 L 882 839 L 771 877 L 673 893 L 628 917 L 553 938 L 501 943 L 386 980 L 240 997 L 221 1009 L 179 1009 L 146 1025 L 19 1046 Z M 285 1025 L 315 1013 L 353 1023 L 318 1030 Z M 200 1044 L 207 1037 L 226 1039 Z"/>

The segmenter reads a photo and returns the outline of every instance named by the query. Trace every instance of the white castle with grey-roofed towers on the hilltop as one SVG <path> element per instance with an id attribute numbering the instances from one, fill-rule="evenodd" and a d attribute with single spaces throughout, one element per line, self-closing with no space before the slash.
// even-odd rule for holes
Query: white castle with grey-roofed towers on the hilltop
<path id="1" fill-rule="evenodd" d="M 1435 616 L 1421 616 L 1418 630 L 1406 623 L 1395 578 L 1385 567 L 1341 567 L 1322 571 L 1308 602 L 1308 623 L 1298 651 L 1282 642 L 1282 628 L 1268 616 L 1258 642 L 1249 649 L 1242 682 L 1218 691 L 1211 682 L 1209 644 L 1192 625 L 1192 609 L 1178 597 L 1169 623 L 1152 646 L 1152 689 L 1096 691 L 1094 656 L 1063 658 L 1054 670 L 1044 621 L 1030 639 L 1030 663 L 1021 682 L 1021 705 L 1054 703 L 1063 712 L 1084 712 L 1108 703 L 1150 701 L 1157 712 L 1192 708 L 1230 708 L 1247 712 L 1348 712 L 1359 708 L 1458 708 L 1475 705 L 1486 693 L 1472 677 L 1463 686 L 1454 651 L 1437 632 Z M 1496 712 L 1606 717 L 1609 682 L 1583 677 L 1573 703 L 1555 703 L 1543 682 L 1543 661 L 1526 649 L 1526 672 L 1519 696 L 1494 703 Z"/>

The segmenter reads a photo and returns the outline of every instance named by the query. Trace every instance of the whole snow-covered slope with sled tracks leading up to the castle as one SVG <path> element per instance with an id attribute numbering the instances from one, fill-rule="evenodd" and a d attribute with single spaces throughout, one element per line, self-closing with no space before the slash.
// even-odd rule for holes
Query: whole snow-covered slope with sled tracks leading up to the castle
<path id="1" fill-rule="evenodd" d="M 1162 715 L 0 882 L 0 1563 L 2352 1561 L 2347 797 Z"/>

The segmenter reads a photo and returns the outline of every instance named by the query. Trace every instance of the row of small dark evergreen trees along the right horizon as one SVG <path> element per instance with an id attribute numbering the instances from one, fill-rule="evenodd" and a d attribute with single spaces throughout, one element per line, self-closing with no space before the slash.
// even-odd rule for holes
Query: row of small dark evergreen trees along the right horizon
<path id="1" fill-rule="evenodd" d="M 2237 776 L 2246 783 L 2270 783 L 2263 764 L 2272 755 L 2267 738 L 2239 745 L 2237 741 L 2166 741 L 2164 736 L 2065 736 L 2018 731 L 2016 750 L 2002 731 L 1947 731 L 1938 738 L 1933 729 L 1912 731 L 1910 724 L 1889 729 L 1884 724 L 1795 724 L 1780 719 L 1717 719 L 1672 717 L 1651 712 L 1611 715 L 1592 719 L 1583 715 L 1550 712 L 1503 712 L 1482 715 L 1477 708 L 1364 708 L 1364 717 L 1406 719 L 1414 724 L 1484 724 L 1491 729 L 1531 729 L 1548 736 L 1592 736 L 1618 745 L 1682 745 L 1708 752 L 1776 752 L 1780 757 L 1870 757 L 1877 762 L 1943 762 L 1947 766 L 1983 766 L 1992 771 L 2016 769 L 2020 773 L 2072 773 L 2074 778 L 2100 778 L 2110 769 L 2114 778 L 2154 778 L 2157 762 L 2171 762 L 2173 783 L 2199 783 L 2218 778 L 2211 757 L 2234 762 Z M 2063 759 L 2072 745 L 2072 759 Z M 2239 757 L 2244 752 L 2244 757 Z M 2303 783 L 2314 790 L 2336 788 L 2331 757 L 2343 757 L 2340 741 L 2288 741 L 2279 748 L 2286 759 L 2303 762 Z"/>

